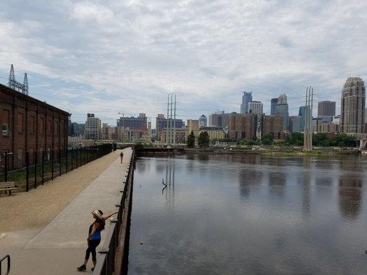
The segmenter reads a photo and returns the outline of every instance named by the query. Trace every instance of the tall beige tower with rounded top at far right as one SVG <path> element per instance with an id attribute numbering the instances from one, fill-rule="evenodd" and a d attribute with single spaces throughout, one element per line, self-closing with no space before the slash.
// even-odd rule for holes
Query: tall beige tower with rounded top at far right
<path id="1" fill-rule="evenodd" d="M 348 78 L 342 90 L 342 133 L 363 133 L 366 88 L 361 78 Z"/>

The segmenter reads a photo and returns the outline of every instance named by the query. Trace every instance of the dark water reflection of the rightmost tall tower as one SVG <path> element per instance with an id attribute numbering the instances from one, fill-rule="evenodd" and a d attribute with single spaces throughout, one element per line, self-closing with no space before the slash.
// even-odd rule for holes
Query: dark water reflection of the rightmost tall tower
<path id="1" fill-rule="evenodd" d="M 346 219 L 357 219 L 361 212 L 362 180 L 339 179 L 339 211 Z"/>

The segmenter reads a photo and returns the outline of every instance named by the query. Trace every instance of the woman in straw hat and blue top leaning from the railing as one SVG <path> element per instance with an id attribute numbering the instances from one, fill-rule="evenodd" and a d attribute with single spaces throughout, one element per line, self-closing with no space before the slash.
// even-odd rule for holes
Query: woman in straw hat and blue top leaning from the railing
<path id="1" fill-rule="evenodd" d="M 95 219 L 94 223 L 90 225 L 90 230 L 88 233 L 88 248 L 85 251 L 85 260 L 83 265 L 80 267 L 76 267 L 78 271 L 87 270 L 87 262 L 90 259 L 90 253 L 92 252 L 92 261 L 93 267 L 96 267 L 96 247 L 101 243 L 101 231 L 105 229 L 105 220 L 111 217 L 113 214 L 116 214 L 118 211 L 111 212 L 105 216 L 103 216 L 103 212 L 101 210 L 93 210 L 92 215 Z"/>

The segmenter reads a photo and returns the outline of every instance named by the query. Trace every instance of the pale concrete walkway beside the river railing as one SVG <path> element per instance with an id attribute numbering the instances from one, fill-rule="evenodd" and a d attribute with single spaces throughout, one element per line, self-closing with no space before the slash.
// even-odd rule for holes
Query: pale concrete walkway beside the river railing
<path id="1" fill-rule="evenodd" d="M 123 164 L 120 164 L 119 157 L 116 158 L 41 230 L 6 232 L 5 236 L 0 232 L 0 254 L 10 254 L 11 275 L 80 274 L 76 267 L 83 263 L 88 228 L 93 222 L 90 211 L 101 209 L 107 213 L 115 210 L 114 205 L 118 202 L 119 190 L 127 173 L 127 162 L 132 155 L 131 148 L 124 149 L 124 155 Z M 106 221 L 100 247 L 108 228 L 109 221 Z M 87 273 L 92 273 L 90 267 L 92 259 L 88 263 Z"/>

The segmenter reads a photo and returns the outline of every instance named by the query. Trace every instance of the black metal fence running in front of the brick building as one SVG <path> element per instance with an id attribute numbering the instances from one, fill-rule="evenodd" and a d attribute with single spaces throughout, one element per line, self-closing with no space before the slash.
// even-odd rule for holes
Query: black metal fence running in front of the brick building
<path id="1" fill-rule="evenodd" d="M 37 188 L 40 184 L 54 180 L 67 172 L 116 150 L 114 144 L 101 144 L 67 150 L 34 151 L 25 153 L 25 167 L 8 170 L 8 155 L 4 154 L 1 181 L 14 181 L 20 191 Z"/>

